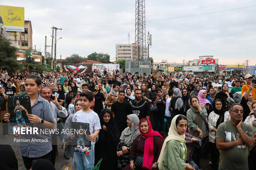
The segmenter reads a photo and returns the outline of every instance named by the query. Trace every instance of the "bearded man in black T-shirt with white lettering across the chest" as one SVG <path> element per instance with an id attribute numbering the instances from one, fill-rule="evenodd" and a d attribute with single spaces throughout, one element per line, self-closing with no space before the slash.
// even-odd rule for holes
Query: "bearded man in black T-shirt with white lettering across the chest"
<path id="1" fill-rule="evenodd" d="M 135 114 L 139 119 L 150 117 L 150 105 L 149 103 L 142 99 L 141 89 L 135 89 L 134 91 L 135 99 L 131 100 L 129 105 L 129 114 Z"/>

